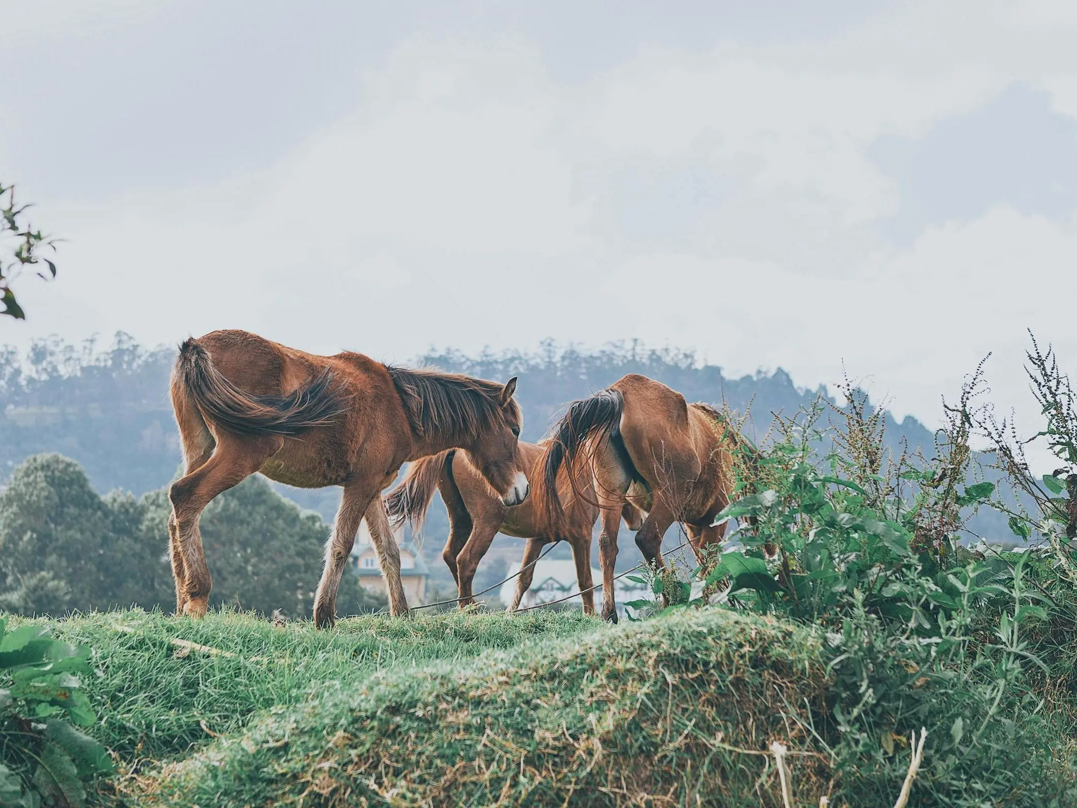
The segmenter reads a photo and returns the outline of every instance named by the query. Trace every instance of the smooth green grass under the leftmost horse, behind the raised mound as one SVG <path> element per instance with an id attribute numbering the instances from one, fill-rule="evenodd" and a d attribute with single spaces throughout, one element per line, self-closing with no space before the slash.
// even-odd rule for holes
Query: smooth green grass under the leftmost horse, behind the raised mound
<path id="1" fill-rule="evenodd" d="M 185 754 L 212 734 L 234 733 L 253 715 L 354 686 L 386 668 L 434 659 L 456 663 L 534 637 L 565 637 L 596 625 L 578 613 L 529 612 L 342 619 L 334 630 L 310 623 L 275 627 L 250 614 L 177 619 L 140 610 L 79 615 L 56 636 L 99 654 L 101 678 L 86 691 L 99 716 L 95 737 L 128 765 Z M 221 654 L 184 652 L 186 640 Z"/>

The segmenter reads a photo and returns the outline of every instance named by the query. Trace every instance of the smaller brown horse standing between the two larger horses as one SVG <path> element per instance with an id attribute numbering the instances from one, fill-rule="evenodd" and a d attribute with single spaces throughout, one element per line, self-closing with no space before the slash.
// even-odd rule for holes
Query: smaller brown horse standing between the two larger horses
<path id="1" fill-rule="evenodd" d="M 542 456 L 540 444 L 520 442 L 520 458 L 523 468 L 534 473 L 534 464 Z M 581 469 L 583 471 L 583 469 Z M 472 581 L 479 561 L 490 549 L 498 532 L 527 539 L 520 574 L 516 582 L 516 593 L 508 611 L 516 611 L 523 594 L 531 588 L 534 562 L 542 548 L 549 542 L 567 541 L 572 546 L 572 557 L 576 562 L 576 582 L 579 585 L 584 612 L 595 613 L 595 594 L 591 583 L 591 529 L 599 509 L 593 502 L 593 488 L 586 475 L 581 474 L 575 483 L 582 497 L 576 497 L 569 507 L 565 518 L 555 527 L 543 518 L 533 501 L 508 507 L 490 490 L 466 451 L 450 449 L 434 457 L 417 460 L 408 466 L 401 484 L 386 498 L 390 517 L 396 521 L 409 521 L 418 529 L 430 507 L 436 488 L 449 512 L 449 538 L 442 552 L 442 558 L 452 573 L 459 588 L 458 604 L 461 609 L 475 602 L 472 596 Z M 562 486 L 564 488 L 564 486 Z M 562 491 L 562 494 L 565 491 Z M 639 530 L 642 523 L 637 509 L 625 503 L 624 518 L 630 530 Z"/>

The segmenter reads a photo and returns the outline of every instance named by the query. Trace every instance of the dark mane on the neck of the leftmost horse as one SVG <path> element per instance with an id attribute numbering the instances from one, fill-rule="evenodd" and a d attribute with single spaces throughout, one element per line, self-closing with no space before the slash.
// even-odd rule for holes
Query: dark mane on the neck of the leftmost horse
<path id="1" fill-rule="evenodd" d="M 503 385 L 459 373 L 386 365 L 418 435 L 443 433 L 462 443 L 477 438 L 501 415 Z M 510 402 L 519 419 L 519 405 Z"/>

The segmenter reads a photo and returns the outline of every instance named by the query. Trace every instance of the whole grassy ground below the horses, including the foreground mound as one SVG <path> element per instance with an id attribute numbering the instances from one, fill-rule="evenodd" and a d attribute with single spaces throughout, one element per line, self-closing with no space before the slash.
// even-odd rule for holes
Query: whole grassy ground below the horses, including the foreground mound
<path id="1" fill-rule="evenodd" d="M 120 770 L 102 804 L 782 806 L 779 741 L 791 805 L 889 806 L 908 765 L 898 734 L 885 765 L 850 766 L 826 635 L 721 609 L 621 626 L 374 616 L 333 631 L 127 611 L 71 617 L 58 636 L 98 652 L 92 732 Z M 926 726 L 910 805 L 949 805 L 932 778 L 952 767 L 952 728 Z M 1049 740 L 1012 728 L 1015 774 L 985 780 L 977 805 L 1071 805 Z"/>

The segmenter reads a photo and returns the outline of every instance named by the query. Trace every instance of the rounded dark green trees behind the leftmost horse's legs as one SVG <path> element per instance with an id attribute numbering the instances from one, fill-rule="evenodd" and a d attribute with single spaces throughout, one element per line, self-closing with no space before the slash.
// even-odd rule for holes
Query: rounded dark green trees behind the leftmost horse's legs
<path id="1" fill-rule="evenodd" d="M 0 609 L 58 614 L 137 604 L 170 611 L 169 511 L 165 490 L 102 498 L 73 460 L 27 459 L 0 496 Z M 210 503 L 201 533 L 214 605 L 310 616 L 328 538 L 317 514 L 251 477 Z M 345 575 L 340 614 L 384 605 L 383 596 Z"/>

